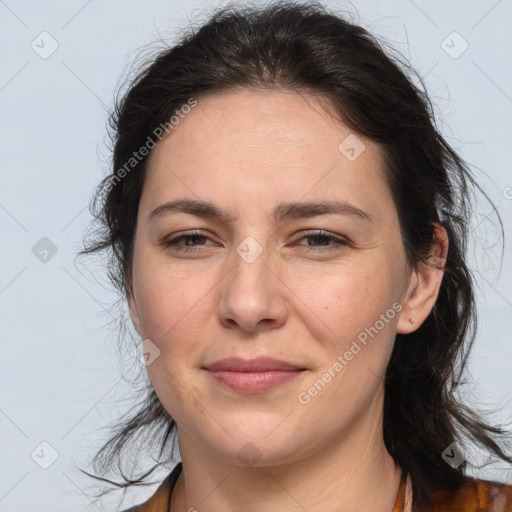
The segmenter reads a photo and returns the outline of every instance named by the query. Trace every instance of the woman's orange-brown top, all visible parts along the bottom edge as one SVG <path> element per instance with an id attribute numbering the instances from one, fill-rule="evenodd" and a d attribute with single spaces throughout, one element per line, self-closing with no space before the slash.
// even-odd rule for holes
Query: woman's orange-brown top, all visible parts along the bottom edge
<path id="1" fill-rule="evenodd" d="M 168 512 L 181 470 L 179 462 L 149 500 L 124 512 Z M 430 497 L 434 505 L 428 512 L 512 512 L 512 485 L 499 482 L 466 477 L 458 489 L 435 491 Z M 392 512 L 405 510 L 405 498 L 406 480 L 402 478 Z"/>

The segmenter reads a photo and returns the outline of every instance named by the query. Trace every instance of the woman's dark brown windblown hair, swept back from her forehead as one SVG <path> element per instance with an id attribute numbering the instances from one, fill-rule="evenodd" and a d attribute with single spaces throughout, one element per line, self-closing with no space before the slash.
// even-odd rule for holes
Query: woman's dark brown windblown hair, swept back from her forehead
<path id="1" fill-rule="evenodd" d="M 98 228 L 82 253 L 108 250 L 109 276 L 125 297 L 132 286 L 147 156 L 115 184 L 114 175 L 190 98 L 238 87 L 324 97 L 355 133 L 380 144 L 411 266 L 429 257 L 436 223 L 448 232 L 437 302 L 415 332 L 396 336 L 385 378 L 384 440 L 412 477 L 415 504 L 428 503 L 433 489 L 462 483 L 467 462 L 455 469 L 442 457 L 454 441 L 474 442 L 512 462 L 504 451 L 509 433 L 487 424 L 457 396 L 475 335 L 474 286 L 465 252 L 471 198 L 481 190 L 436 128 L 425 88 L 408 64 L 366 30 L 319 4 L 223 8 L 144 65 L 111 117 L 112 172 L 91 205 Z M 499 216 L 498 221 L 501 226 Z M 95 469 L 117 468 L 124 479 L 119 486 L 143 483 L 169 460 L 175 427 L 148 383 L 140 408 L 115 428 L 94 460 Z M 159 447 L 157 464 L 130 479 L 120 469 L 121 454 L 140 435 L 152 436 L 149 444 Z"/>

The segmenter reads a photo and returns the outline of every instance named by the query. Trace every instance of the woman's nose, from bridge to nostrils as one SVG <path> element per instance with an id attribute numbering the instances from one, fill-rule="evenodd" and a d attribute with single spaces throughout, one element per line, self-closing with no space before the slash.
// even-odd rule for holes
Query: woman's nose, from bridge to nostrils
<path id="1" fill-rule="evenodd" d="M 233 254 L 217 306 L 224 327 L 257 332 L 284 325 L 289 315 L 287 287 L 269 260 L 266 250 L 252 262 Z"/>

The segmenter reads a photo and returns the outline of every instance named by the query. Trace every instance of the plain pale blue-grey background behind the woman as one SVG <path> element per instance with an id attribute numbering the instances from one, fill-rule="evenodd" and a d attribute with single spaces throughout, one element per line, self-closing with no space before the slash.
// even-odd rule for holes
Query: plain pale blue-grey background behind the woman
<path id="1" fill-rule="evenodd" d="M 105 109 L 133 52 L 159 35 L 173 41 L 215 5 L 0 0 L 1 511 L 118 510 L 112 498 L 91 504 L 77 469 L 88 468 L 100 429 L 129 408 L 131 388 L 108 327 L 116 296 L 101 284 L 101 263 L 79 267 L 75 255 L 108 168 Z M 328 5 L 386 38 L 424 77 L 442 132 L 512 234 L 512 1 Z M 500 273 L 490 211 L 482 202 L 474 222 L 481 321 L 467 389 L 510 422 L 512 251 L 506 240 Z"/>

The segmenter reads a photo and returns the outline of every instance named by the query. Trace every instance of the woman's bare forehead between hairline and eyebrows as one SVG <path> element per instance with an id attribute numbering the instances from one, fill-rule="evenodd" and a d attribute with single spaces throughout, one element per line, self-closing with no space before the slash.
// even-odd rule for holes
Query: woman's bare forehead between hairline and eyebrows
<path id="1" fill-rule="evenodd" d="M 324 98 L 292 91 L 200 98 L 152 150 L 143 203 L 192 195 L 249 206 L 342 195 L 389 206 L 379 146 L 333 113 Z"/>

